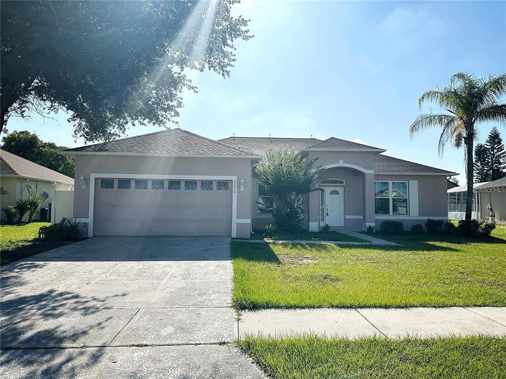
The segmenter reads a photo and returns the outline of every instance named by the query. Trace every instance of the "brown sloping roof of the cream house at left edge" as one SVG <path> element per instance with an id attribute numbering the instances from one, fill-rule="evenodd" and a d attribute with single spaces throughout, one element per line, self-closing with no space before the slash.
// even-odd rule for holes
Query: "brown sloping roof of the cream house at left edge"
<path id="1" fill-rule="evenodd" d="M 57 171 L 47 167 L 40 166 L 28 159 L 21 158 L 5 150 L 0 150 L 0 175 L 2 176 L 20 176 L 31 179 L 40 179 L 56 181 L 60 183 L 73 184 L 74 179 L 60 174 Z"/>

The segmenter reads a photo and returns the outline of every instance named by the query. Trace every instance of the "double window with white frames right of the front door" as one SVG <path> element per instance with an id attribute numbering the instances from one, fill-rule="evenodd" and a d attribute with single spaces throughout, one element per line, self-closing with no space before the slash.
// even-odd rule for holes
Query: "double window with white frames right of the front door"
<path id="1" fill-rule="evenodd" d="M 378 215 L 408 215 L 408 182 L 375 181 L 374 213 Z"/>

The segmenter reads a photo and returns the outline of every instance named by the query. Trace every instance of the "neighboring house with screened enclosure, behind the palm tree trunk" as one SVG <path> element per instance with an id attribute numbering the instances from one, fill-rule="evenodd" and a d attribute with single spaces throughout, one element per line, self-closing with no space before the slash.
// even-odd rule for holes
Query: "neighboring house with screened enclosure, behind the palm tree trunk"
<path id="1" fill-rule="evenodd" d="M 466 217 L 467 185 L 448 189 L 448 219 L 463 220 Z M 506 224 L 506 178 L 473 184 L 473 210 L 471 217 L 482 221 Z"/>

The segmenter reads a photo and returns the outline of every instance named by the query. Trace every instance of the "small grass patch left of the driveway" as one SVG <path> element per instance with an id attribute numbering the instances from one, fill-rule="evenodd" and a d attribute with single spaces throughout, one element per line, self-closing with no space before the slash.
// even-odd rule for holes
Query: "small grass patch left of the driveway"
<path id="1" fill-rule="evenodd" d="M 34 240 L 40 226 L 49 222 L 25 225 L 0 225 L 0 265 L 57 248 L 68 243 L 60 240 Z"/>

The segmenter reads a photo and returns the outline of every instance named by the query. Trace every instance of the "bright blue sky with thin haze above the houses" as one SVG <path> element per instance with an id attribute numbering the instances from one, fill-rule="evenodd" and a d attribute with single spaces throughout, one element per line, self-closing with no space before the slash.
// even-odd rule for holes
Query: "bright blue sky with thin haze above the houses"
<path id="1" fill-rule="evenodd" d="M 439 158 L 437 130 L 413 141 L 407 130 L 420 94 L 452 74 L 506 72 L 506 2 L 252 1 L 235 8 L 251 19 L 255 38 L 236 43 L 230 78 L 192 75 L 198 93 L 185 94 L 182 128 L 211 138 L 335 136 L 464 172 L 463 151 L 448 148 Z M 8 129 L 83 145 L 65 114 L 54 117 L 13 118 Z M 491 127 L 481 126 L 480 139 Z M 128 135 L 158 129 L 134 127 Z"/>

